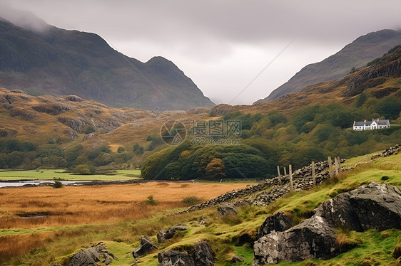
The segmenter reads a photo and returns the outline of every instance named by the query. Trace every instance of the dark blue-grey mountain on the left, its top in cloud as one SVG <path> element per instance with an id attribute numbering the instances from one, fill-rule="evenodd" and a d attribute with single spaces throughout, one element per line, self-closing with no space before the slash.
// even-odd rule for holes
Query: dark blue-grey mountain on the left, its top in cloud
<path id="1" fill-rule="evenodd" d="M 17 26 L 0 18 L 0 87 L 143 110 L 214 105 L 166 58 L 142 63 L 94 33 L 67 31 L 39 18 L 30 21 L 16 20 Z"/>

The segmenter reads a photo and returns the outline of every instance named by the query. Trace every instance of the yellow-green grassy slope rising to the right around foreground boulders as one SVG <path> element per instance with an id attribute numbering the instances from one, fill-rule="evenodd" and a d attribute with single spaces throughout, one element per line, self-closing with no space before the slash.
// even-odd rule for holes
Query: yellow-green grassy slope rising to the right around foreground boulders
<path id="1" fill-rule="evenodd" d="M 370 161 L 370 156 L 350 159 L 346 164 L 355 164 L 357 161 Z M 382 181 L 382 176 L 389 176 L 390 179 Z M 215 265 L 231 265 L 228 260 L 233 255 L 240 255 L 245 259 L 245 262 L 235 265 L 252 265 L 252 248 L 248 244 L 235 246 L 235 238 L 242 230 L 255 230 L 267 216 L 276 211 L 291 213 L 293 223 L 299 223 L 300 220 L 305 218 L 305 213 L 313 210 L 330 196 L 335 196 L 336 193 L 341 191 L 357 188 L 362 183 L 369 183 L 370 181 L 389 183 L 400 187 L 401 154 L 377 158 L 367 164 L 360 164 L 355 170 L 342 174 L 340 180 L 329 181 L 310 191 L 293 193 L 275 201 L 268 207 L 241 208 L 238 217 L 221 219 L 218 217 L 215 208 L 176 216 L 168 216 L 168 213 L 178 210 L 167 210 L 155 213 L 151 219 L 137 222 L 125 220 L 107 225 L 86 225 L 84 227 L 58 228 L 58 230 L 49 228 L 51 232 L 42 233 L 45 234 L 42 235 L 45 243 L 42 248 L 33 251 L 26 250 L 24 255 L 18 255 L 12 262 L 9 262 L 9 265 L 45 265 L 49 262 L 62 261 L 79 247 L 85 248 L 101 240 L 106 241 L 108 249 L 118 257 L 118 261 L 113 261 L 111 265 L 131 265 L 133 257 L 130 252 L 138 247 L 138 239 L 141 235 L 151 235 L 151 240 L 157 242 L 156 233 L 158 230 L 168 228 L 176 223 L 187 223 L 190 226 L 188 230 L 176 235 L 172 240 L 158 245 L 161 251 L 191 245 L 201 239 L 208 239 L 216 251 Z M 203 216 L 209 217 L 207 226 L 194 223 L 195 220 Z M 8 233 L 11 234 L 10 231 Z M 7 233 L 2 232 L 2 235 L 4 234 Z M 29 230 L 14 230 L 12 234 L 29 235 Z M 401 242 L 401 230 L 387 230 L 385 232 L 369 230 L 365 233 L 339 232 L 339 235 L 344 235 L 345 238 L 355 240 L 360 244 L 357 248 L 331 260 L 281 262 L 280 265 L 360 265 L 365 260 L 372 262 L 372 265 L 395 265 L 391 253 L 395 245 Z M 157 253 L 142 257 L 139 261 L 141 262 L 140 265 L 157 265 Z"/>

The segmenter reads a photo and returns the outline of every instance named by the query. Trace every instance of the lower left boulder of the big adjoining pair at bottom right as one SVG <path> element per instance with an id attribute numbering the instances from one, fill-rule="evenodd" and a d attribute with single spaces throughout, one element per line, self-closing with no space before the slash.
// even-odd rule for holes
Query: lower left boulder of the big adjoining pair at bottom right
<path id="1" fill-rule="evenodd" d="M 253 265 L 300 261 L 310 258 L 328 259 L 339 252 L 335 244 L 335 228 L 328 220 L 313 216 L 284 232 L 263 236 L 253 247 Z"/>

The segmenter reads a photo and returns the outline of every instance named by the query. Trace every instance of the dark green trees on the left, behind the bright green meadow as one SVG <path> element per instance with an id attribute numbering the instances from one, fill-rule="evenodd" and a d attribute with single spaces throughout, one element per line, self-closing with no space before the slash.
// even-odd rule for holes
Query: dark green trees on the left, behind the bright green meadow
<path id="1" fill-rule="evenodd" d="M 124 164 L 139 166 L 135 156 L 143 154 L 143 147 L 119 147 L 112 152 L 108 147 L 84 148 L 73 144 L 63 149 L 59 144 L 34 144 L 18 139 L 0 139 L 0 169 L 70 169 L 79 174 L 94 174 L 99 166 L 121 168 Z"/>

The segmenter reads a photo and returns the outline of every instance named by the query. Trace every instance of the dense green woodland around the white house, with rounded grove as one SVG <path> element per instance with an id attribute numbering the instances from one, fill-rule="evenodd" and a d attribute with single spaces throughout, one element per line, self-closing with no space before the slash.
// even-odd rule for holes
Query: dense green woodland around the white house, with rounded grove
<path id="1" fill-rule="evenodd" d="M 377 100 L 360 95 L 355 107 L 314 105 L 291 117 L 233 112 L 223 119 L 240 119 L 241 144 L 192 146 L 183 142 L 149 156 L 143 163 L 145 179 L 235 179 L 269 178 L 276 166 L 295 169 L 323 161 L 327 156 L 349 158 L 385 149 L 401 139 L 401 129 L 355 132 L 354 120 L 386 118 L 401 122 L 401 101 L 395 97 Z M 393 123 L 394 124 L 394 123 Z"/>

